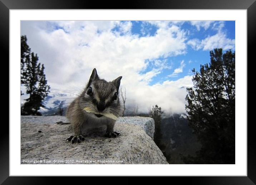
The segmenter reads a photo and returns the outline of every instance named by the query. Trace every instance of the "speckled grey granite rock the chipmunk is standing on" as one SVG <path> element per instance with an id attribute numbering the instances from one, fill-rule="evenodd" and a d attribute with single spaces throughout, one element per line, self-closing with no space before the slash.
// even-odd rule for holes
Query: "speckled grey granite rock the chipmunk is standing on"
<path id="1" fill-rule="evenodd" d="M 21 164 L 168 164 L 143 124 L 134 121 L 140 118 L 125 119 L 115 125 L 121 133 L 117 138 L 103 137 L 103 127 L 89 130 L 85 141 L 72 144 L 66 141 L 72 126 L 55 124 L 66 122 L 64 116 L 21 116 Z"/>

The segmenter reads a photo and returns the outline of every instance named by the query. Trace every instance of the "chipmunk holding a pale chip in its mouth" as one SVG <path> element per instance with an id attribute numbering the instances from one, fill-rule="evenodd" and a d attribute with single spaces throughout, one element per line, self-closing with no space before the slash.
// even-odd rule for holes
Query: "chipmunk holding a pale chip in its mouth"
<path id="1" fill-rule="evenodd" d="M 122 76 L 119 76 L 107 82 L 100 79 L 97 70 L 93 69 L 83 92 L 68 106 L 66 116 L 74 128 L 74 136 L 70 136 L 68 141 L 80 143 L 85 140 L 83 136 L 85 129 L 103 125 L 107 126 L 105 137 L 120 135 L 113 130 L 116 119 L 106 116 L 108 114 L 117 118 L 123 115 L 124 107 L 118 96 L 121 79 Z M 88 112 L 87 109 L 91 111 Z"/>

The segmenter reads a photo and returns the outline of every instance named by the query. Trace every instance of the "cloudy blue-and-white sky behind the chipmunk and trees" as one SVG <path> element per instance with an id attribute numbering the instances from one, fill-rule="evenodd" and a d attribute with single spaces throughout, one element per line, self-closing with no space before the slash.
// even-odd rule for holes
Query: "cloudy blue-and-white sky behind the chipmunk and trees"
<path id="1" fill-rule="evenodd" d="M 185 113 L 192 72 L 214 48 L 235 50 L 235 21 L 21 21 L 21 35 L 45 65 L 51 94 L 79 93 L 93 68 L 123 76 L 128 109 Z M 63 92 L 65 91 L 65 92 Z"/>

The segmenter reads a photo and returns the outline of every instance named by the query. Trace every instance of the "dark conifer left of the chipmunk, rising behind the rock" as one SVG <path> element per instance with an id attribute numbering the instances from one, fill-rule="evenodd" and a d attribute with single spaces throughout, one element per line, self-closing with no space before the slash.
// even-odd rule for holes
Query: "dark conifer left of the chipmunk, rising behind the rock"
<path id="1" fill-rule="evenodd" d="M 24 38 L 25 36 L 21 36 L 21 40 Z M 26 41 L 26 39 L 24 39 L 24 41 Z M 24 50 L 23 47 L 29 48 L 27 46 L 26 44 L 21 45 L 21 50 Z M 41 63 L 38 64 L 37 54 L 32 52 L 30 57 L 26 58 L 29 60 L 25 60 L 26 80 L 24 83 L 29 98 L 26 99 L 25 104 L 21 107 L 21 115 L 41 115 L 38 110 L 40 107 L 44 107 L 43 100 L 49 94 L 50 86 L 47 85 L 44 65 L 41 65 Z"/>

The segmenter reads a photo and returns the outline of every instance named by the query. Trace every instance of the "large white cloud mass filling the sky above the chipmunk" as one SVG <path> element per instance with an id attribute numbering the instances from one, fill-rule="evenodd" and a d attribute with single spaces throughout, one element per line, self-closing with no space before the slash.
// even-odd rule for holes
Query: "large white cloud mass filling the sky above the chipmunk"
<path id="1" fill-rule="evenodd" d="M 135 101 L 139 111 L 148 111 L 158 104 L 165 111 L 184 113 L 186 89 L 180 86 L 191 85 L 189 77 L 149 85 L 163 69 L 171 69 L 160 57 L 186 53 L 186 32 L 177 25 L 161 24 L 154 36 L 139 38 L 131 34 L 131 22 L 58 21 L 49 25 L 27 21 L 21 24 L 21 34 L 27 35 L 31 50 L 45 64 L 52 92 L 78 93 L 95 67 L 99 76 L 108 81 L 123 76 L 121 85 L 127 89 L 127 105 Z M 117 26 L 122 36 L 111 31 Z M 147 61 L 154 62 L 155 67 L 141 74 Z"/>

